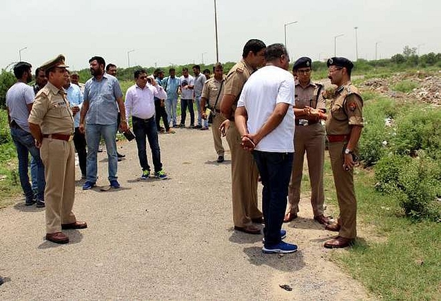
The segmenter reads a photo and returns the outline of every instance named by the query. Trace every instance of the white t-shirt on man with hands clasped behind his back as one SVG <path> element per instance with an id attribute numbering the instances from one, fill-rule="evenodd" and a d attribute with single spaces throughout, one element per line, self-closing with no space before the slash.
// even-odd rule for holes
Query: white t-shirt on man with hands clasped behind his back
<path id="1" fill-rule="evenodd" d="M 248 132 L 256 134 L 278 103 L 289 103 L 287 114 L 278 127 L 256 145 L 256 150 L 294 152 L 294 77 L 276 66 L 260 68 L 243 86 L 237 104 L 247 110 Z"/>

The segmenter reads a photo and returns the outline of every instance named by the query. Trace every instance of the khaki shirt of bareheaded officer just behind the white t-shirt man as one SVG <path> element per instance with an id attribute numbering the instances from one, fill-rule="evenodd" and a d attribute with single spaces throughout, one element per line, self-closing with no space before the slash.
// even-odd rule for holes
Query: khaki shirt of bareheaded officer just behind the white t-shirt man
<path id="1" fill-rule="evenodd" d="M 239 100 L 240 92 L 242 92 L 243 85 L 245 85 L 245 82 L 254 71 L 255 70 L 251 68 L 244 59 L 240 60 L 240 62 L 236 63 L 236 65 L 229 70 L 223 94 L 236 96 L 236 101 L 234 101 L 232 105 L 233 112 L 236 110 L 236 104 Z"/>

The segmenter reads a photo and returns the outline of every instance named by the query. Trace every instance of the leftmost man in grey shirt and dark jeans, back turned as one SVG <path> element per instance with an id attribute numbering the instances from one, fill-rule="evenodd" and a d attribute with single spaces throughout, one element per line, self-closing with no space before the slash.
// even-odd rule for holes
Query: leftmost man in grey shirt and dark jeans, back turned
<path id="1" fill-rule="evenodd" d="M 28 83 L 32 81 L 32 65 L 19 62 L 14 65 L 14 75 L 17 83 L 6 93 L 6 110 L 8 123 L 11 130 L 12 141 L 17 148 L 19 159 L 19 177 L 21 189 L 25 194 L 25 205 L 29 206 L 37 201 L 37 207 L 44 207 L 44 167 L 40 158 L 40 151 L 35 146 L 34 138 L 30 134 L 28 117 L 34 103 L 34 90 Z M 32 187 L 29 183 L 28 163 L 29 153 L 37 164 L 37 195 L 34 198 Z"/>

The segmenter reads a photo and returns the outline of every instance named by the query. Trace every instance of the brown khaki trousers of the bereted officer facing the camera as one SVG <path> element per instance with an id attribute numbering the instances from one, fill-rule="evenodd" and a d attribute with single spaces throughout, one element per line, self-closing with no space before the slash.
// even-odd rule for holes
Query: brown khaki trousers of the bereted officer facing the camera
<path id="1" fill-rule="evenodd" d="M 323 165 L 325 164 L 325 128 L 320 123 L 296 126 L 294 134 L 294 163 L 289 181 L 288 211 L 297 214 L 300 202 L 303 159 L 308 161 L 309 183 L 311 183 L 311 205 L 314 216 L 323 214 L 325 194 L 323 192 Z"/>

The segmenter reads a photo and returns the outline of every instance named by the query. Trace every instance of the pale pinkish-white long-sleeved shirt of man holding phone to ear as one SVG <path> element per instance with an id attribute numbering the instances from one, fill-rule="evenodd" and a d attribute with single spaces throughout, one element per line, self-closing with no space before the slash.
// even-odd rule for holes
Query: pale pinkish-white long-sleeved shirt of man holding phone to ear
<path id="1" fill-rule="evenodd" d="M 154 116 L 154 96 L 165 99 L 167 93 L 160 85 L 150 85 L 147 83 L 144 89 L 138 85 L 132 85 L 125 92 L 125 118 L 128 120 L 130 116 L 141 119 L 148 119 Z"/>

